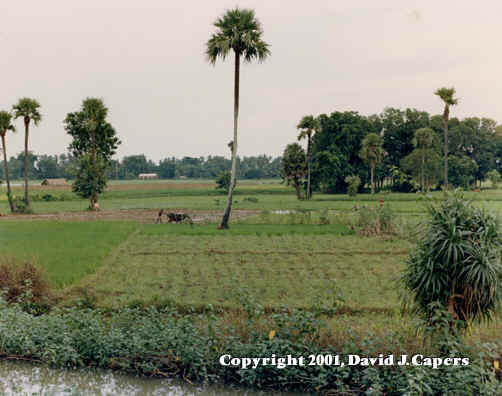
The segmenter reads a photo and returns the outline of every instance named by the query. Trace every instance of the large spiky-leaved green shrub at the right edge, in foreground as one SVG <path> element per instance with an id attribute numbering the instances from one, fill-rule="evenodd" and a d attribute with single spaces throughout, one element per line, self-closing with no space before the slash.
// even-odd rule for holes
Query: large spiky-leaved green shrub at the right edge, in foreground
<path id="1" fill-rule="evenodd" d="M 402 280 L 419 311 L 440 303 L 455 320 L 489 320 L 502 299 L 500 221 L 460 191 L 428 206 L 423 236 Z"/>

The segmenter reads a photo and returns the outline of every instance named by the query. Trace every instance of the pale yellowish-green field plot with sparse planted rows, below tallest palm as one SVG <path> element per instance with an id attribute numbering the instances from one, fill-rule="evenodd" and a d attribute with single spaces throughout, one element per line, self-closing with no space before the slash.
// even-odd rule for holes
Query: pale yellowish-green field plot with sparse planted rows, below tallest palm
<path id="1" fill-rule="evenodd" d="M 174 234 L 174 227 L 145 226 L 77 288 L 92 290 L 104 307 L 174 300 L 237 308 L 237 285 L 269 308 L 309 307 L 316 290 L 337 279 L 346 309 L 389 310 L 397 304 L 393 282 L 410 246 L 369 239 L 362 247 L 356 236 L 309 234 L 326 227 L 315 225 L 283 226 L 303 234 L 260 236 L 240 233 L 245 226 L 219 235 Z"/>

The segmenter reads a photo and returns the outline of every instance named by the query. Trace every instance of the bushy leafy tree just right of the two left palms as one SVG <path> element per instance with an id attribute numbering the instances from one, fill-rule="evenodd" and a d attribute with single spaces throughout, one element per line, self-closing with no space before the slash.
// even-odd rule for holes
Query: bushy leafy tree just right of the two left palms
<path id="1" fill-rule="evenodd" d="M 101 99 L 87 98 L 81 110 L 69 113 L 64 121 L 65 130 L 73 139 L 68 149 L 79 161 L 73 191 L 90 199 L 91 210 L 98 208 L 98 195 L 106 186 L 106 169 L 121 143 L 106 121 L 107 114 Z"/>

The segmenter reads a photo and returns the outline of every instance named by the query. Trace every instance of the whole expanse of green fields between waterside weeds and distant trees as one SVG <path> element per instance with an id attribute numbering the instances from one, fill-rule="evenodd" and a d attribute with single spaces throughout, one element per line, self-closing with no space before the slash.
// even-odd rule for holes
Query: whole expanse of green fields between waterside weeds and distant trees
<path id="1" fill-rule="evenodd" d="M 187 310 L 211 304 L 232 312 L 239 306 L 238 289 L 245 288 L 267 310 L 284 304 L 308 309 L 336 280 L 344 302 L 326 330 L 326 342 L 390 330 L 410 345 L 417 342 L 411 318 L 400 312 L 397 283 L 413 247 L 410 235 L 361 237 L 349 220 L 355 206 L 377 207 L 383 199 L 409 232 L 425 214 L 420 194 L 359 195 L 357 200 L 315 194 L 311 201 L 298 201 L 292 189 L 272 181 L 242 183 L 233 207 L 249 213 L 234 215 L 230 230 L 218 231 L 225 196 L 210 181 L 112 183 L 96 218 L 85 211 L 86 201 L 68 188 L 63 193 L 68 200 L 33 202 L 34 216 L 0 218 L 0 250 L 44 267 L 64 304 L 85 295 L 103 308 L 174 301 Z M 467 195 L 475 205 L 502 209 L 501 190 Z M 154 209 L 160 207 L 202 220 L 193 227 L 153 224 Z M 7 202 L 0 200 L 0 213 L 7 211 Z M 134 216 L 124 216 L 127 211 Z M 64 221 L 54 221 L 55 213 Z M 77 214 L 93 221 L 75 221 L 81 219 Z M 104 220 L 108 214 L 114 221 Z M 322 216 L 330 224 L 319 224 Z M 471 337 L 495 339 L 501 323 L 476 326 Z"/>

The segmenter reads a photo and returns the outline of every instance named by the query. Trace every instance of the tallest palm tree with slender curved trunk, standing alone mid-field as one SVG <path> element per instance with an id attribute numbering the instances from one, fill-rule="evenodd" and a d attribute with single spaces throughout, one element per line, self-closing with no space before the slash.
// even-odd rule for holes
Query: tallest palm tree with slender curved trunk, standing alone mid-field
<path id="1" fill-rule="evenodd" d="M 232 195 L 237 169 L 237 120 L 239 117 L 239 74 L 241 58 L 244 62 L 263 61 L 270 54 L 268 44 L 262 40 L 263 30 L 253 10 L 234 8 L 227 10 L 214 23 L 216 32 L 207 42 L 206 56 L 211 64 L 218 58 L 225 60 L 231 51 L 235 55 L 234 68 L 234 139 L 232 144 L 232 172 L 227 206 L 218 228 L 228 228 L 232 209 Z"/>

